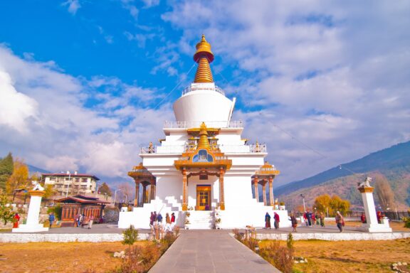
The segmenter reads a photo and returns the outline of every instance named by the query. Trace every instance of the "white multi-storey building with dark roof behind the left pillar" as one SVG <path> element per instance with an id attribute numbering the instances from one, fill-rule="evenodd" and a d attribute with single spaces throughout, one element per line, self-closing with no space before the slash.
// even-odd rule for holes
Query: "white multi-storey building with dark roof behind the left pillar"
<path id="1" fill-rule="evenodd" d="M 41 180 L 44 185 L 53 185 L 59 196 L 95 193 L 97 181 L 100 180 L 97 176 L 86 173 L 42 173 Z"/>

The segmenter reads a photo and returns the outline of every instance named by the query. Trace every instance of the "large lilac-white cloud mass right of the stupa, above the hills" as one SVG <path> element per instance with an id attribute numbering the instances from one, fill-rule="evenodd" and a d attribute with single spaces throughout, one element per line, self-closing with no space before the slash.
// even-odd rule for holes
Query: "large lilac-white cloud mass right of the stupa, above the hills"
<path id="1" fill-rule="evenodd" d="M 408 14 L 408 1 L 179 1 L 162 18 L 180 53 L 204 32 L 213 65 L 235 68 L 221 70 L 234 118 L 284 183 L 410 139 Z"/>

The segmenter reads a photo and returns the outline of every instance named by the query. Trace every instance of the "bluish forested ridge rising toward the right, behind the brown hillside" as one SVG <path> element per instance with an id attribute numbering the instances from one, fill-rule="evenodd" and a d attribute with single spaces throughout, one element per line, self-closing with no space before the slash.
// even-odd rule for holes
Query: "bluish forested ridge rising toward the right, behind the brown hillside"
<path id="1" fill-rule="evenodd" d="M 404 169 L 410 171 L 410 141 L 396 144 L 390 148 L 376 151 L 362 159 L 357 159 L 347 164 L 341 164 L 342 168 L 336 166 L 327 171 L 319 173 L 301 181 L 288 183 L 275 188 L 276 196 L 283 196 L 303 188 L 317 186 L 336 178 L 342 178 L 354 173 L 368 173 L 379 171 L 381 173 L 390 172 L 391 169 Z M 351 170 L 352 172 L 348 171 Z"/>

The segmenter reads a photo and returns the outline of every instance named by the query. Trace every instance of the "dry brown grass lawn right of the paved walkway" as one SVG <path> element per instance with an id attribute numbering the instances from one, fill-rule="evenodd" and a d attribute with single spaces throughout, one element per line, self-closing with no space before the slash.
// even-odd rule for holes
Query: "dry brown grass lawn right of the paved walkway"
<path id="1" fill-rule="evenodd" d="M 262 245 L 266 242 L 262 242 Z M 283 243 L 283 242 L 282 242 Z M 261 247 L 262 247 L 261 245 Z M 410 263 L 410 239 L 384 241 L 295 241 L 295 272 L 389 272 L 393 262 Z"/>

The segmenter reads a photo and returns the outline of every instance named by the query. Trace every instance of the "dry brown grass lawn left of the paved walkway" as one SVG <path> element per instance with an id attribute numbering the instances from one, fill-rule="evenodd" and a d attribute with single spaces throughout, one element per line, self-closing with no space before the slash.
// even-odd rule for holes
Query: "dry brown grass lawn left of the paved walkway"
<path id="1" fill-rule="evenodd" d="M 107 272 L 120 265 L 112 254 L 125 248 L 121 242 L 0 243 L 0 259 L 6 258 L 0 260 L 0 272 Z"/>

